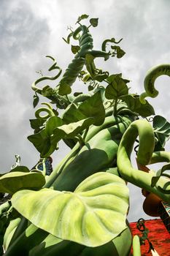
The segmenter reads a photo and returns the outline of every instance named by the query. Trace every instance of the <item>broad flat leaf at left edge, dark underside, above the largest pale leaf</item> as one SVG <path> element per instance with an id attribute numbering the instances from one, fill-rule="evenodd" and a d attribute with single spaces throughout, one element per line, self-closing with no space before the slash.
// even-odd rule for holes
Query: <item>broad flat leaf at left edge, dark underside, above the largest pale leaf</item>
<path id="1" fill-rule="evenodd" d="M 0 177 L 0 192 L 13 194 L 19 189 L 39 189 L 45 185 L 42 173 L 12 172 Z"/>

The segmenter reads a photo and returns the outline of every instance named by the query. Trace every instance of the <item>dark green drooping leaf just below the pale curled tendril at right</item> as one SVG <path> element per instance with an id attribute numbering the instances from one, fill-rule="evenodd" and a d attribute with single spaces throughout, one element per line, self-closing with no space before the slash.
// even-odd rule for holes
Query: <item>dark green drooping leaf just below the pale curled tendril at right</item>
<path id="1" fill-rule="evenodd" d="M 139 116 L 147 117 L 155 114 L 155 111 L 149 102 L 146 102 L 146 104 L 140 102 L 139 95 L 128 94 L 120 98 L 125 101 L 129 110 L 138 113 Z"/>

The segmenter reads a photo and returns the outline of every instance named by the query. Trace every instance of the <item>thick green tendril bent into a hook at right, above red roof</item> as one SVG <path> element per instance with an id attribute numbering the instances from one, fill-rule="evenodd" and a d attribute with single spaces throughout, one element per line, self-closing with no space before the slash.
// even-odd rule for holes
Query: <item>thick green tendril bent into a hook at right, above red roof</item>
<path id="1" fill-rule="evenodd" d="M 120 175 L 125 178 L 126 181 L 131 182 L 137 187 L 146 189 L 149 192 L 158 195 L 162 200 L 170 202 L 170 195 L 164 194 L 157 187 L 169 190 L 170 184 L 167 178 L 159 178 L 156 187 L 151 187 L 152 177 L 155 173 L 144 173 L 142 170 L 134 169 L 131 165 L 131 151 L 134 146 L 134 142 L 139 135 L 139 151 L 137 155 L 137 161 L 142 165 L 147 165 L 152 159 L 152 152 L 154 149 L 154 132 L 150 123 L 146 120 L 136 120 L 126 130 L 120 141 L 120 146 L 117 152 L 117 167 Z"/>

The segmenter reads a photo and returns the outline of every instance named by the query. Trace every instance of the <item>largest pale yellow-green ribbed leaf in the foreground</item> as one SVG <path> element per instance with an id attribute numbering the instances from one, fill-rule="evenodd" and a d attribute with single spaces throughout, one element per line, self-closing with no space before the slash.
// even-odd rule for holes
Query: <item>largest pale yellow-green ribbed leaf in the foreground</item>
<path id="1" fill-rule="evenodd" d="M 21 190 L 12 206 L 37 227 L 63 240 L 100 246 L 125 228 L 128 187 L 112 173 L 95 173 L 74 192 Z"/>

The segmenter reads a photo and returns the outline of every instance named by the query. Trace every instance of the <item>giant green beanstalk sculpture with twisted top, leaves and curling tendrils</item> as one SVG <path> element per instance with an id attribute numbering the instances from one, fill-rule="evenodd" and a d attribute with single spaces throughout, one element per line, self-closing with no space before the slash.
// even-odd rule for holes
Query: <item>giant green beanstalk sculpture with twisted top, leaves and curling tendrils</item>
<path id="1" fill-rule="evenodd" d="M 32 170 L 17 161 L 0 176 L 0 192 L 12 196 L 0 206 L 1 255 L 127 256 L 132 244 L 127 181 L 170 203 L 169 174 L 164 173 L 169 170 L 170 153 L 163 151 L 170 124 L 155 116 L 144 99 L 157 96 L 155 79 L 169 75 L 170 64 L 148 72 L 144 94 L 131 94 L 130 81 L 121 73 L 109 74 L 94 62 L 101 57 L 104 61 L 122 58 L 125 52 L 118 46 L 122 39 L 105 39 L 101 50 L 93 50 L 89 29 L 98 25 L 98 19 L 82 25 L 87 18 L 80 16 L 78 28 L 64 39 L 68 44 L 77 40 L 78 45 L 72 45 L 74 59 L 57 85 L 38 87 L 43 80 L 56 81 L 61 76 L 52 56 L 47 56 L 53 61 L 49 71 L 57 69 L 57 75 L 42 76 L 32 84 L 34 108 L 39 95 L 48 99 L 30 120 L 34 134 L 28 140 L 39 151 L 40 161 Z M 86 93 L 73 94 L 74 82 L 85 83 Z M 154 116 L 152 124 L 149 116 Z M 158 173 L 132 167 L 131 151 L 138 136 L 139 164 L 168 162 Z M 50 173 L 47 161 L 60 140 L 70 152 Z M 139 247 L 136 237 L 134 245 Z M 134 249 L 135 255 L 139 248 Z"/>

